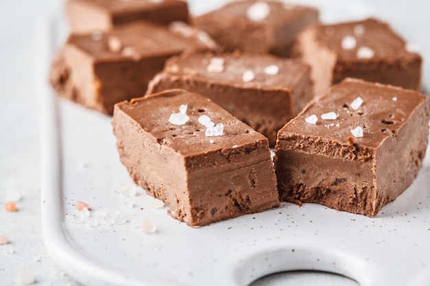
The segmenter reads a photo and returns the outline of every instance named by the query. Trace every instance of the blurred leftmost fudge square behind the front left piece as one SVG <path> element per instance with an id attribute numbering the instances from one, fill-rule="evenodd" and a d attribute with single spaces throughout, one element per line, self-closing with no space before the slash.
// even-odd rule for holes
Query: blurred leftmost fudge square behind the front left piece
<path id="1" fill-rule="evenodd" d="M 50 81 L 60 95 L 112 114 L 117 102 L 143 96 L 168 58 L 209 47 L 206 38 L 184 37 L 147 22 L 72 34 L 52 64 Z"/>

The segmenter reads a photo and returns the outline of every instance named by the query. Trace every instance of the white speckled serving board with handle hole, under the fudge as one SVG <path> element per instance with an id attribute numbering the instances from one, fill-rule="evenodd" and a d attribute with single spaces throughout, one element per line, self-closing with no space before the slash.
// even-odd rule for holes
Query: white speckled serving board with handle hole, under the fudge
<path id="1" fill-rule="evenodd" d="M 194 12 L 220 5 L 190 2 Z M 327 21 L 373 12 L 364 2 L 324 3 L 319 8 L 328 11 L 322 15 Z M 168 216 L 167 207 L 150 208 L 153 199 L 142 189 L 135 207 L 127 208 L 120 192 L 131 178 L 118 158 L 111 117 L 58 99 L 45 80 L 54 42 L 64 38 L 53 29 L 56 25 L 45 23 L 39 31 L 42 225 L 47 251 L 77 281 L 91 286 L 245 286 L 276 272 L 319 270 L 362 286 L 430 284 L 430 152 L 414 184 L 373 218 L 317 204 L 283 203 L 190 228 Z M 93 211 L 117 210 L 128 222 L 72 224 L 69 217 L 77 214 L 73 204 L 78 200 Z M 154 222 L 157 233 L 134 228 L 136 217 Z"/>

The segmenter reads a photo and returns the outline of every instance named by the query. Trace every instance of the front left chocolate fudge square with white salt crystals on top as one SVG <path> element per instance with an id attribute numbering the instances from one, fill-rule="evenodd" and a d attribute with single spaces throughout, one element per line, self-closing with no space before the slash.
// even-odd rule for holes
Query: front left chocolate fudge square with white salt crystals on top
<path id="1" fill-rule="evenodd" d="M 133 180 L 189 226 L 280 205 L 267 139 L 202 95 L 121 102 L 112 122 Z"/>

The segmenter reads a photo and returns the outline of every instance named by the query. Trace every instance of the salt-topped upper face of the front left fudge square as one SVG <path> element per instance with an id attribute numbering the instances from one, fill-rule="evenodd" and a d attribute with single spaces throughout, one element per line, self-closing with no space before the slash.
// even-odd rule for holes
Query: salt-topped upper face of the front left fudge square
<path id="1" fill-rule="evenodd" d="M 265 146 L 266 137 L 252 130 L 207 97 L 175 89 L 132 99 L 115 106 L 136 121 L 145 132 L 155 137 L 161 146 L 167 146 L 183 156 L 197 156 L 224 150 L 247 150 L 247 145 Z M 188 118 L 187 118 L 188 117 Z M 185 119 L 184 119 L 185 118 Z M 214 130 L 210 136 L 205 121 L 210 119 Z M 220 131 L 219 126 L 223 126 Z M 218 126 L 218 127 L 216 127 Z M 209 131 L 210 132 L 210 131 Z"/>

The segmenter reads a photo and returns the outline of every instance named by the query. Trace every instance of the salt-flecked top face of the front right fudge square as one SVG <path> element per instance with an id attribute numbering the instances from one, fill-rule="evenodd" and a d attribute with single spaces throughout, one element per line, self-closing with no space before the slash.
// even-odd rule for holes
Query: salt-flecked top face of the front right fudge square
<path id="1" fill-rule="evenodd" d="M 417 91 L 347 78 L 308 104 L 278 136 L 377 148 L 387 137 L 396 136 L 421 104 L 428 104 L 428 97 Z M 330 117 L 329 112 L 336 118 L 321 118 Z M 313 123 L 315 118 L 317 122 Z M 363 136 L 357 128 L 362 128 Z"/>

